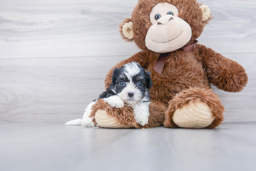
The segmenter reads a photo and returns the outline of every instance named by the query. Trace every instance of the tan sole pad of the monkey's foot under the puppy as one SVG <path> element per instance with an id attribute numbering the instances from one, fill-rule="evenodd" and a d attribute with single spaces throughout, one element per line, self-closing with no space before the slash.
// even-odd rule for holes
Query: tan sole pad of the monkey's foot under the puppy
<path id="1" fill-rule="evenodd" d="M 128 125 L 120 125 L 118 120 L 107 115 L 105 110 L 97 110 L 95 113 L 95 120 L 99 126 L 104 128 L 132 128 Z"/>

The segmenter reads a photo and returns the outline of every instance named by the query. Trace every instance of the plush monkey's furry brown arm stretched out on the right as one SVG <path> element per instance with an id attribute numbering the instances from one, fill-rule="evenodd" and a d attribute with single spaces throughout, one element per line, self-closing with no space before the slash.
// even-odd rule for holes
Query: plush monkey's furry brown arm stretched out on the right
<path id="1" fill-rule="evenodd" d="M 209 81 L 218 89 L 228 92 L 239 92 L 247 84 L 245 69 L 236 61 L 216 53 L 204 45 L 196 45 L 198 61 L 206 69 Z"/>

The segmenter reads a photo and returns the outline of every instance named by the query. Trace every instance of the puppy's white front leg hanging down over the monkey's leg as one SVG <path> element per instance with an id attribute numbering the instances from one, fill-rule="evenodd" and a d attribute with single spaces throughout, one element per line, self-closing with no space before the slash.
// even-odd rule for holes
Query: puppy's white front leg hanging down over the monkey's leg
<path id="1" fill-rule="evenodd" d="M 148 105 L 149 104 L 150 102 L 137 103 L 135 106 L 133 106 L 133 113 L 135 115 L 135 120 L 141 126 L 144 126 L 148 123 L 148 116 L 149 116 Z"/>

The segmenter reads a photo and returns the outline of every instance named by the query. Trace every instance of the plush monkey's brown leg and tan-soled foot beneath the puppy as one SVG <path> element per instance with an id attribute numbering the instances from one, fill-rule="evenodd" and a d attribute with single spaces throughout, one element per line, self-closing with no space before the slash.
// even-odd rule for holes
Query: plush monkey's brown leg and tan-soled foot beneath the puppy
<path id="1" fill-rule="evenodd" d="M 152 101 L 149 104 L 148 124 L 141 126 L 136 122 L 133 110 L 127 106 L 113 108 L 103 99 L 98 99 L 92 106 L 89 117 L 93 118 L 94 125 L 106 128 L 152 128 L 162 126 L 167 108 L 164 104 Z"/>

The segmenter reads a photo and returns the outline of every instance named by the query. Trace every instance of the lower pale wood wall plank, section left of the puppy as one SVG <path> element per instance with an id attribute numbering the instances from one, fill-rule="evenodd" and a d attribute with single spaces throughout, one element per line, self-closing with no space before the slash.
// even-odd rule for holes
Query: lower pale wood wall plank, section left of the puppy
<path id="1" fill-rule="evenodd" d="M 109 69 L 128 57 L 1 60 L 0 120 L 80 118 Z"/>

